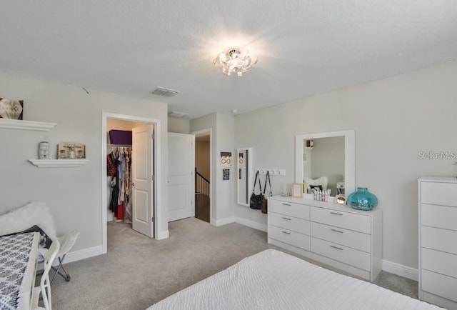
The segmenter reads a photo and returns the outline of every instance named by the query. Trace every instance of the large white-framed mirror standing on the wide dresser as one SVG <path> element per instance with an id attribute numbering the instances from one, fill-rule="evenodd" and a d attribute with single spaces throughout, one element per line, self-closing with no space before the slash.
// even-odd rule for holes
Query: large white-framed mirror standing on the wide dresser
<path id="1" fill-rule="evenodd" d="M 295 136 L 295 181 L 324 177 L 331 196 L 356 189 L 356 131 Z M 306 189 L 304 189 L 306 192 Z"/>

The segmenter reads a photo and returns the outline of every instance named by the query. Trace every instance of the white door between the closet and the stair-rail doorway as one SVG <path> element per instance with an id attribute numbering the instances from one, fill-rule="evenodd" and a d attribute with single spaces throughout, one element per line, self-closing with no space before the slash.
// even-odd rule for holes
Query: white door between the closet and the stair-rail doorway
<path id="1" fill-rule="evenodd" d="M 195 136 L 169 132 L 169 221 L 195 216 Z"/>

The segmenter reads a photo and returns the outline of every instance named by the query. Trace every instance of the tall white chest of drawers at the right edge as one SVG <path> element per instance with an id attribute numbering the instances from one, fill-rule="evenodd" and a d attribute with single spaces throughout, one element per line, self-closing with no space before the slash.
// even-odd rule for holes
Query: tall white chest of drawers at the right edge
<path id="1" fill-rule="evenodd" d="M 457 309 L 457 179 L 422 177 L 419 192 L 419 299 Z"/>

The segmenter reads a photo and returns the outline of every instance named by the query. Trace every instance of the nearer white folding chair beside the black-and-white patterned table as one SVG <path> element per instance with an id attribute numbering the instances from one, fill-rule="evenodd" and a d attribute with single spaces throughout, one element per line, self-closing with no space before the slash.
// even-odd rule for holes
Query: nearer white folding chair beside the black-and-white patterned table
<path id="1" fill-rule="evenodd" d="M 51 282 L 49 281 L 49 271 L 51 270 L 52 262 L 56 259 L 59 252 L 59 241 L 52 242 L 49 249 L 39 248 L 39 253 L 43 256 L 43 274 L 41 274 L 40 286 L 36 286 L 32 294 L 32 308 L 31 309 L 45 309 L 51 310 Z M 43 301 L 44 308 L 38 306 L 39 296 Z"/>

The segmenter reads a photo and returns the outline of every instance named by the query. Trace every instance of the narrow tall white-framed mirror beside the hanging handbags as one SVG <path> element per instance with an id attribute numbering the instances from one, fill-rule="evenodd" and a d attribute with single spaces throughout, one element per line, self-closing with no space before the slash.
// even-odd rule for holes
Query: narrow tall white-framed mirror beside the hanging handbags
<path id="1" fill-rule="evenodd" d="M 253 178 L 253 151 L 252 148 L 237 149 L 238 204 L 249 206 L 249 195 L 252 191 Z"/>

